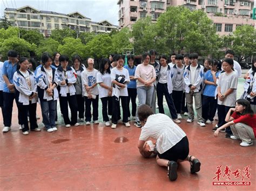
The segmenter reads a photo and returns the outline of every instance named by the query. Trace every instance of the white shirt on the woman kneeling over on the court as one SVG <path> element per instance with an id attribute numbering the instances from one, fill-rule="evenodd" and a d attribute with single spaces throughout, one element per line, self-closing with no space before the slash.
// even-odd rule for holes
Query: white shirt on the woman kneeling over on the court
<path id="1" fill-rule="evenodd" d="M 158 113 L 150 115 L 142 127 L 139 140 L 149 138 L 157 140 L 156 147 L 160 154 L 168 151 L 186 136 L 185 132 L 167 115 Z"/>

